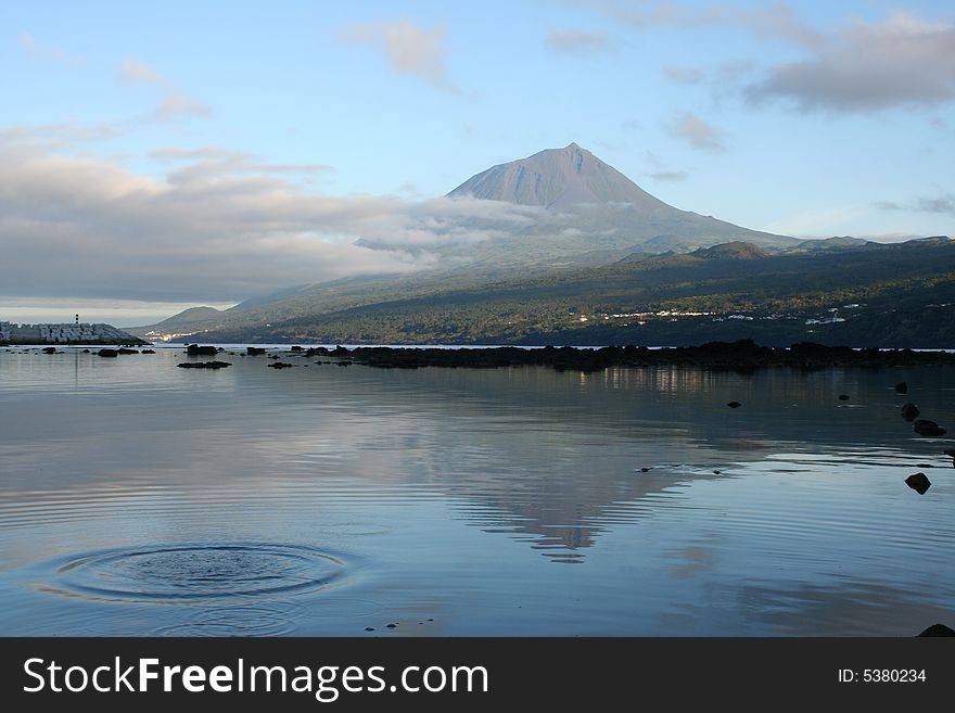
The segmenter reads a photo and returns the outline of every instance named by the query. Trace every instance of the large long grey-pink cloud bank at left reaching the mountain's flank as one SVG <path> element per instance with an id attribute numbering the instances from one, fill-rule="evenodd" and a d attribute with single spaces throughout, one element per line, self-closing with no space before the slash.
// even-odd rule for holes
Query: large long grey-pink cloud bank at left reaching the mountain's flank
<path id="1" fill-rule="evenodd" d="M 31 143 L 0 145 L 0 294 L 231 303 L 420 269 L 435 250 L 535 215 L 487 201 L 323 195 L 281 177 L 301 167 L 224 149 L 164 149 L 154 158 L 175 162 L 166 179 Z"/>

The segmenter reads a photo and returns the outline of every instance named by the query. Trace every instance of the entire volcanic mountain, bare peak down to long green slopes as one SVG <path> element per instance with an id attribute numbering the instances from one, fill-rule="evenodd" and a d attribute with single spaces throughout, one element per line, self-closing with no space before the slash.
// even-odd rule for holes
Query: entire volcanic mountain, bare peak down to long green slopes
<path id="1" fill-rule="evenodd" d="M 429 270 L 290 287 L 231 309 L 187 310 L 130 331 L 179 338 L 191 332 L 205 341 L 500 343 L 546 342 L 564 333 L 580 340 L 586 329 L 587 339 L 637 339 L 649 332 L 595 331 L 583 317 L 792 308 L 792 327 L 805 310 L 805 319 L 817 319 L 812 309 L 823 303 L 838 307 L 878 296 L 889 304 L 887 295 L 895 295 L 905 309 L 929 306 L 922 316 L 937 317 L 932 305 L 955 301 L 948 294 L 955 251 L 947 239 L 886 246 L 750 230 L 667 205 L 575 143 L 493 166 L 447 198 L 485 204 L 464 212 L 483 217 L 459 219 L 449 230 L 482 231 L 483 240 L 436 249 L 436 266 Z M 513 205 L 527 206 L 522 215 L 533 220 L 508 222 Z M 879 315 L 867 332 L 873 344 L 880 329 L 899 323 L 897 315 Z M 687 339 L 722 329 L 711 321 L 697 324 Z M 928 328 L 912 329 L 928 334 Z"/>

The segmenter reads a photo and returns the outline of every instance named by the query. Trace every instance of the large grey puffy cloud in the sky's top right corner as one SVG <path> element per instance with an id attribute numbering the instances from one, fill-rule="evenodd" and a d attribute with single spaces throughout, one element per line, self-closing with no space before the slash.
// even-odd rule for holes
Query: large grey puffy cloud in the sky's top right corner
<path id="1" fill-rule="evenodd" d="M 836 112 L 951 101 L 955 24 L 925 22 L 903 11 L 881 23 L 855 21 L 826 36 L 806 59 L 772 67 L 747 96 Z"/>

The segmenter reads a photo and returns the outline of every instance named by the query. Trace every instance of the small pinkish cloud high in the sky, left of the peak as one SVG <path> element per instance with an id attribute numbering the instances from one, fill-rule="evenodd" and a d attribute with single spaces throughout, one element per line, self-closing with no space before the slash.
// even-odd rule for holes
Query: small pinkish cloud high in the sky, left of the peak
<path id="1" fill-rule="evenodd" d="M 443 91 L 458 92 L 447 77 L 443 27 L 424 29 L 407 21 L 358 24 L 345 27 L 341 37 L 353 44 L 381 49 L 398 74 L 423 79 Z"/>

